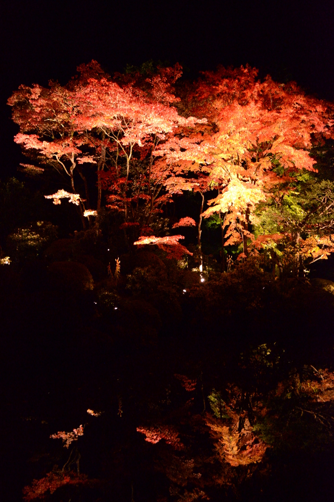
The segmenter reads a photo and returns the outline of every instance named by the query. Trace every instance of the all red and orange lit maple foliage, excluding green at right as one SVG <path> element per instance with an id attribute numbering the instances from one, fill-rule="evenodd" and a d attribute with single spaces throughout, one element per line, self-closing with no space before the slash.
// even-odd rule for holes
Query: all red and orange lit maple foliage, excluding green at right
<path id="1" fill-rule="evenodd" d="M 312 144 L 334 137 L 332 104 L 294 82 L 279 84 L 269 76 L 261 82 L 248 65 L 204 72 L 179 87 L 181 97 L 174 87 L 179 64 L 145 76 L 111 77 L 96 61 L 78 71 L 65 86 L 20 86 L 8 103 L 20 126 L 15 141 L 27 154 L 69 176 L 73 196 L 76 173 L 82 179 L 85 197 L 77 202 L 83 225 L 84 214 L 90 223 L 93 215 L 84 170 L 94 166 L 97 212 L 106 190 L 107 207 L 121 212 L 124 223 L 149 226 L 173 196 L 199 192 L 199 244 L 202 217 L 219 213 L 223 244 L 243 242 L 247 257 L 258 204 L 296 170 L 314 172 Z M 181 221 L 174 227 L 186 224 Z"/>

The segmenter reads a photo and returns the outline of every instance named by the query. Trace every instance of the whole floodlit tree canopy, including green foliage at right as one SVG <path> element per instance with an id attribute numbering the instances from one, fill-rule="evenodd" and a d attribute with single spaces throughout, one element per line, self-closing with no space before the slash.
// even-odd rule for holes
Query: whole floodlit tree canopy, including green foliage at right
<path id="1" fill-rule="evenodd" d="M 102 203 L 119 213 L 127 245 L 153 233 L 157 243 L 175 196 L 192 192 L 199 245 L 202 218 L 218 217 L 224 247 L 242 244 L 239 259 L 266 249 L 281 273 L 292 255 L 301 274 L 331 252 L 332 183 L 311 155 L 333 137 L 331 103 L 294 82 L 261 82 L 249 66 L 194 83 L 178 83 L 178 64 L 111 77 L 92 61 L 78 72 L 65 86 L 21 86 L 8 102 L 33 162 L 23 169 L 58 171 L 61 188 L 46 196 L 74 203 L 83 228 L 98 225 Z"/>

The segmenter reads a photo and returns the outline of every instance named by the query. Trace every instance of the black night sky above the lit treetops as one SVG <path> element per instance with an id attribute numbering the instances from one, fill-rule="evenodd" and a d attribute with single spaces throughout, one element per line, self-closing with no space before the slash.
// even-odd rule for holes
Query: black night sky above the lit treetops
<path id="1" fill-rule="evenodd" d="M 186 73 L 246 63 L 334 98 L 330 0 L 313 2 L 5 2 L 1 13 L 2 172 L 19 148 L 6 101 L 21 83 L 67 82 L 97 60 L 107 71 L 149 59 L 180 62 Z"/>

